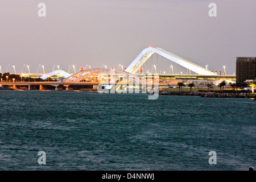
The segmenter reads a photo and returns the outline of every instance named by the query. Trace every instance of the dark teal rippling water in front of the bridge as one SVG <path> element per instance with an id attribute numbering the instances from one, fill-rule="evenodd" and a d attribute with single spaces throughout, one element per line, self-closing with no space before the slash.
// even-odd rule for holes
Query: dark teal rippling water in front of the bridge
<path id="1" fill-rule="evenodd" d="M 256 102 L 147 94 L 0 91 L 1 170 L 247 170 Z M 46 152 L 46 165 L 38 152 Z M 209 151 L 217 164 L 209 165 Z"/>

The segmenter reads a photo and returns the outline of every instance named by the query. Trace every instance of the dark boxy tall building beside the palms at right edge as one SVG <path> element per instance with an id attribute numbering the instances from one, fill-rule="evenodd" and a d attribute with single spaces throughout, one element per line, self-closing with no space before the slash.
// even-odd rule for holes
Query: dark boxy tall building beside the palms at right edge
<path id="1" fill-rule="evenodd" d="M 245 80 L 255 80 L 256 57 L 237 57 L 236 76 L 240 84 Z"/>

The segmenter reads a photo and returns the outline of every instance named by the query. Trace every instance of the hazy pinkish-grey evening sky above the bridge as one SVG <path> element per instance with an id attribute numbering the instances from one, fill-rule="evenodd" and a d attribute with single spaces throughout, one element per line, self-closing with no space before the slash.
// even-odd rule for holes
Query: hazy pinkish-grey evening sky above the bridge
<path id="1" fill-rule="evenodd" d="M 46 17 L 38 16 L 40 2 Z M 211 2 L 217 17 L 208 15 Z M 34 73 L 39 64 L 46 72 L 54 64 L 127 67 L 152 46 L 233 74 L 237 56 L 256 56 L 255 7 L 255 0 L 1 0 L 0 65 L 17 73 L 23 64 Z"/>

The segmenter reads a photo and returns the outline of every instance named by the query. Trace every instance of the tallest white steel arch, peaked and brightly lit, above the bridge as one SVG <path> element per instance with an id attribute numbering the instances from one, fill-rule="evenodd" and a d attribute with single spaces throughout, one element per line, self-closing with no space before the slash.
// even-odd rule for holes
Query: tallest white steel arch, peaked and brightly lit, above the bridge
<path id="1" fill-rule="evenodd" d="M 161 48 L 154 48 L 154 47 L 148 47 L 144 49 L 136 58 L 135 60 L 129 65 L 129 67 L 126 68 L 125 72 L 129 73 L 136 73 L 140 67 L 154 54 L 158 53 L 160 56 L 165 57 L 168 60 L 174 61 L 174 63 L 177 63 L 187 69 L 190 69 L 191 71 L 199 74 L 199 75 L 217 75 L 214 72 L 209 71 L 208 69 L 205 69 L 203 67 L 200 67 L 199 65 L 192 63 L 191 61 L 185 60 L 182 57 L 179 57 L 177 55 L 174 55 L 171 52 L 165 51 Z M 146 56 L 145 56 L 146 55 Z"/>

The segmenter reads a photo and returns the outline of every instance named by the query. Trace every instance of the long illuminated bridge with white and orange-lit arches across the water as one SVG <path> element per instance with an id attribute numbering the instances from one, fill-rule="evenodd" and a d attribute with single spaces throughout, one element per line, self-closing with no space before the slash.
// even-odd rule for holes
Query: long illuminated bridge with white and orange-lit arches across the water
<path id="1" fill-rule="evenodd" d="M 49 81 L 49 77 L 56 75 L 61 79 Z M 181 81 L 207 81 L 217 85 L 223 80 L 226 82 L 234 82 L 236 80 L 235 75 L 226 75 L 225 72 L 224 75 L 217 74 L 217 71 L 210 71 L 173 53 L 153 47 L 144 49 L 124 69 L 92 68 L 81 70 L 73 75 L 58 70 L 45 74 L 40 78 L 46 81 L 1 82 L 1 84 L 8 85 L 14 89 L 26 86 L 26 89 L 44 90 L 47 89 L 47 86 L 52 86 L 59 90 L 63 89 L 64 86 L 66 90 L 72 90 L 75 85 L 92 86 L 92 89 L 97 89 L 99 84 L 105 86 L 105 88 L 107 85 L 115 85 L 112 88 L 120 89 L 120 85 L 134 85 L 136 82 L 140 85 L 152 85 L 153 82 L 154 87 L 156 80 L 159 87 L 176 85 L 177 82 Z"/>

